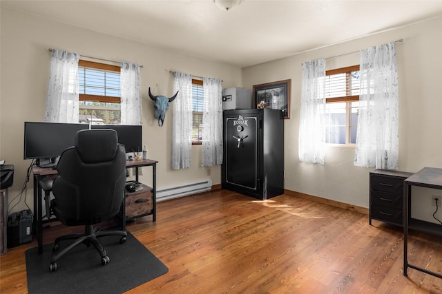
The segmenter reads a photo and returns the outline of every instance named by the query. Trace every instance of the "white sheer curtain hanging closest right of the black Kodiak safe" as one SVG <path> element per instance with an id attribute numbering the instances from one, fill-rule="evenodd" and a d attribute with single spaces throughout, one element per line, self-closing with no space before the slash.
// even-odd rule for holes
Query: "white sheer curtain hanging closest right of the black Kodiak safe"
<path id="1" fill-rule="evenodd" d="M 324 164 L 325 59 L 302 64 L 299 160 Z"/>

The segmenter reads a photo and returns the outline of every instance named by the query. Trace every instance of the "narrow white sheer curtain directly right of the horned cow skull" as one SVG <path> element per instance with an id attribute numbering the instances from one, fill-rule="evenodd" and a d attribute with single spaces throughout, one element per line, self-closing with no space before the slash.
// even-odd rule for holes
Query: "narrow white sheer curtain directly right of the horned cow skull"
<path id="1" fill-rule="evenodd" d="M 172 169 L 191 166 L 192 151 L 192 76 L 175 72 L 173 92 Z"/>

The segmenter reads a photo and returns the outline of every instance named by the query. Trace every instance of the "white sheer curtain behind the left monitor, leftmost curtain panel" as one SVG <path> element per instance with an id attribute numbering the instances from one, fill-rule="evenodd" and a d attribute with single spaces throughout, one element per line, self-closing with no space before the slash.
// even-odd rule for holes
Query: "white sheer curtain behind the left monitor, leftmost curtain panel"
<path id="1" fill-rule="evenodd" d="M 77 53 L 52 50 L 44 121 L 78 123 L 78 61 Z"/>

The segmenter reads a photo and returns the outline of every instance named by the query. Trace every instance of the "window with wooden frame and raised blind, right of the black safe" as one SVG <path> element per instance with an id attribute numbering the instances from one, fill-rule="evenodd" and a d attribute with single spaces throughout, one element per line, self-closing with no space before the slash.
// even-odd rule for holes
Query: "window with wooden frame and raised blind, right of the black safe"
<path id="1" fill-rule="evenodd" d="M 325 143 L 354 145 L 358 125 L 359 65 L 325 72 Z"/>

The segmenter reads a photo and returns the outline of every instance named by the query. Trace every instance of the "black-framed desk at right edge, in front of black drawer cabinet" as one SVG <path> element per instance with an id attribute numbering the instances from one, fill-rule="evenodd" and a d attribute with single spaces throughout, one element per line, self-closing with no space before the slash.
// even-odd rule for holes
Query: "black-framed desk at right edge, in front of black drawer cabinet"
<path id="1" fill-rule="evenodd" d="M 419 231 L 425 231 L 428 233 L 442 233 L 442 226 L 440 224 L 434 224 L 432 222 L 425 222 L 423 220 L 416 220 L 411 218 L 411 196 L 412 186 L 427 187 L 432 189 L 442 189 L 442 169 L 436 169 L 432 167 L 425 167 L 418 171 L 416 174 L 405 179 L 405 189 L 403 191 L 403 275 L 407 275 L 407 268 L 411 267 L 423 273 L 434 275 L 435 277 L 442 278 L 439 273 L 428 271 L 414 264 L 409 264 L 407 261 L 407 242 L 408 242 L 408 228 Z"/>

